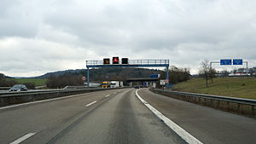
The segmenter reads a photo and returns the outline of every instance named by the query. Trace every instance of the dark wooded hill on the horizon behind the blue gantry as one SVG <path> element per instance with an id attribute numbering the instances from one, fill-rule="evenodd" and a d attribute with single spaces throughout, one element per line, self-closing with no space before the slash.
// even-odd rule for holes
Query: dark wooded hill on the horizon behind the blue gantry
<path id="1" fill-rule="evenodd" d="M 146 68 L 101 68 L 90 69 L 90 80 L 124 79 L 124 78 L 148 78 L 151 74 L 160 73 L 160 70 L 146 69 Z M 66 70 L 58 72 L 48 72 L 36 78 L 49 78 L 53 76 L 63 75 L 82 75 L 87 77 L 86 69 Z"/>

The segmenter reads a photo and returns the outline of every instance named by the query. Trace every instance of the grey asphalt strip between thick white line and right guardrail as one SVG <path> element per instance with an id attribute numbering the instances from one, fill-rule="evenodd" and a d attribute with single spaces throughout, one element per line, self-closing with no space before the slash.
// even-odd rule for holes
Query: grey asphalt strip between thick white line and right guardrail
<path id="1" fill-rule="evenodd" d="M 148 89 L 139 90 L 138 94 L 203 143 L 256 143 L 256 119 L 179 101 Z"/>

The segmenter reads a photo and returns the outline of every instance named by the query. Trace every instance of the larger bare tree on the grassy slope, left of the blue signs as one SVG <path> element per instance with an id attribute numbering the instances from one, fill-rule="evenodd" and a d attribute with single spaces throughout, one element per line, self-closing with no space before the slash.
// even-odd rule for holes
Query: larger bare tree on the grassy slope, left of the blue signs
<path id="1" fill-rule="evenodd" d="M 201 62 L 201 67 L 199 69 L 199 74 L 201 74 L 205 79 L 206 79 L 206 84 L 208 87 L 208 79 L 210 77 L 210 64 L 209 64 L 209 60 L 203 60 Z"/>

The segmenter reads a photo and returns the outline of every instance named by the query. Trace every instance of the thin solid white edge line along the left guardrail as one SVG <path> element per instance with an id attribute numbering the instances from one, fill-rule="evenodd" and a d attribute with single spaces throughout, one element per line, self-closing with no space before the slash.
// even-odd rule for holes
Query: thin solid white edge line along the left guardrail
<path id="1" fill-rule="evenodd" d="M 79 95 L 88 95 L 88 94 L 91 94 L 91 93 L 85 93 L 85 94 L 79 94 Z M 79 95 L 70 95 L 70 96 L 63 96 L 63 97 L 58 97 L 58 98 L 53 98 L 53 99 L 48 99 L 48 100 L 20 103 L 20 104 L 17 104 L 17 105 L 12 105 L 12 106 L 7 106 L 7 107 L 0 107 L 0 110 L 6 109 L 6 108 L 11 108 L 11 107 L 19 107 L 19 106 L 25 106 L 25 105 L 34 104 L 34 103 L 40 103 L 40 102 L 45 102 L 45 101 L 55 101 L 55 100 L 67 99 L 67 98 L 71 98 L 71 97 L 75 97 L 75 96 L 79 96 Z"/>

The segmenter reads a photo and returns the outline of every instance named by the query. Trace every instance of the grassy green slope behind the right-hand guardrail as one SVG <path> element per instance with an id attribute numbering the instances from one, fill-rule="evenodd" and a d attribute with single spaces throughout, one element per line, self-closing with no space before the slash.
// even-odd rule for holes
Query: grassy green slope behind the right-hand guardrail
<path id="1" fill-rule="evenodd" d="M 213 78 L 208 84 L 207 88 L 204 78 L 191 78 L 176 84 L 173 90 L 256 99 L 256 78 Z"/>

